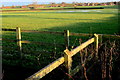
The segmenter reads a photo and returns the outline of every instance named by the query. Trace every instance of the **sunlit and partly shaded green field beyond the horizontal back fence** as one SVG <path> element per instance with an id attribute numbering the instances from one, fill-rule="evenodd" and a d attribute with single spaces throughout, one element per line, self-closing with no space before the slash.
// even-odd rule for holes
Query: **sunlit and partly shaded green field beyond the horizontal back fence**
<path id="1" fill-rule="evenodd" d="M 70 10 L 74 11 L 74 10 Z M 118 10 L 103 9 L 89 12 L 38 11 L 2 13 L 2 27 L 25 30 L 49 30 L 114 34 L 118 31 Z"/>

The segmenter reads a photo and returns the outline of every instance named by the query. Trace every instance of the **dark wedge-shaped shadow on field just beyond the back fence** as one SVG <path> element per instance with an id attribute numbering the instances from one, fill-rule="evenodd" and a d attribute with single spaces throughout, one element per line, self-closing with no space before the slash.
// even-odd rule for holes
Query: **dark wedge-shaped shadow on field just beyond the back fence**
<path id="1" fill-rule="evenodd" d="M 47 31 L 70 30 L 70 32 L 76 33 L 118 34 L 119 29 L 120 28 L 118 24 L 118 15 L 116 14 L 115 16 L 106 18 L 105 20 L 96 20 L 95 22 L 77 22 L 73 24 L 70 23 L 70 25 L 64 27 L 55 26 L 53 28 L 43 28 L 42 30 Z"/>

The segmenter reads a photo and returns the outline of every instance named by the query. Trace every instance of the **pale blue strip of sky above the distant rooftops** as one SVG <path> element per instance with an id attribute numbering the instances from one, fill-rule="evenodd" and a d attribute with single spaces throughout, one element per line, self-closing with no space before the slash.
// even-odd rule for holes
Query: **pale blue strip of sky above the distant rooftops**
<path id="1" fill-rule="evenodd" d="M 33 2 L 37 2 L 38 4 L 49 4 L 51 2 L 55 3 L 72 3 L 72 2 L 113 2 L 113 1 L 120 1 L 120 0 L 0 0 L 0 7 L 4 6 L 22 6 L 32 4 Z"/>

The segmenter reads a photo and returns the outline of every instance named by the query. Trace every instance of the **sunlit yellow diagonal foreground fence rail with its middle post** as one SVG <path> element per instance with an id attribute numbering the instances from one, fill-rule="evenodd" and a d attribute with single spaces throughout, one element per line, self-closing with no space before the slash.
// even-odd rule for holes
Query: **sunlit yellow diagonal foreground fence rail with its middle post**
<path id="1" fill-rule="evenodd" d="M 92 44 L 95 41 L 97 43 L 98 39 L 96 39 L 96 37 L 98 37 L 97 34 L 95 34 L 94 38 L 89 39 L 88 41 L 84 42 L 83 44 L 81 44 L 80 46 L 76 47 L 72 51 L 69 51 L 68 49 L 64 50 L 64 52 L 65 52 L 64 57 L 61 57 L 61 58 L 57 59 L 53 63 L 49 64 L 45 68 L 41 69 L 37 73 L 35 73 L 32 76 L 30 76 L 29 78 L 27 78 L 26 80 L 39 80 L 42 77 L 44 77 L 45 75 L 47 75 L 49 72 L 51 72 L 52 70 L 54 70 L 55 68 L 57 68 L 58 66 L 63 64 L 63 63 L 66 66 L 67 73 L 72 75 L 72 76 L 75 75 L 81 69 L 82 66 L 78 65 L 75 69 L 71 70 L 71 67 L 72 67 L 72 56 L 74 56 L 77 52 L 79 52 L 80 50 L 82 50 L 85 47 L 87 47 L 89 44 Z M 96 44 L 96 45 L 98 45 L 98 44 Z"/>

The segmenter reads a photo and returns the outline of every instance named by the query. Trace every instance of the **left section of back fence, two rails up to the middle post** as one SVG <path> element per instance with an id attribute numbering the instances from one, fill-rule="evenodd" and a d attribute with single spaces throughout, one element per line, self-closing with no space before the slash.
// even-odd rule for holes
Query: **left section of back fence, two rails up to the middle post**
<path id="1" fill-rule="evenodd" d="M 18 50 L 19 50 L 19 52 L 22 54 L 22 44 L 23 43 L 29 43 L 29 44 L 38 44 L 38 45 L 52 45 L 52 46 L 54 46 L 55 44 L 56 44 L 56 46 L 60 46 L 60 47 L 63 47 L 63 46 L 66 46 L 66 47 L 68 47 L 68 42 L 65 42 L 65 44 L 57 44 L 57 43 L 45 43 L 45 42 L 35 42 L 35 41 L 27 41 L 27 40 L 22 40 L 22 35 L 21 35 L 21 33 L 22 32 L 25 32 L 25 33 L 46 33 L 46 34 L 55 34 L 55 35 L 64 35 L 65 36 L 65 41 L 67 41 L 68 39 L 67 39 L 67 36 L 66 35 L 68 35 L 66 32 L 66 30 L 64 31 L 64 32 L 50 32 L 50 31 L 32 31 L 32 30 L 20 30 L 20 28 L 19 27 L 17 27 L 16 29 L 5 29 L 5 28 L 3 28 L 2 29 L 2 31 L 14 31 L 14 32 L 16 32 L 16 40 L 11 40 L 11 39 L 2 39 L 2 40 L 4 40 L 4 41 L 9 41 L 9 42 L 17 42 L 17 46 L 18 46 Z"/>

